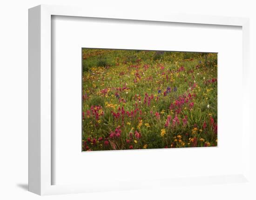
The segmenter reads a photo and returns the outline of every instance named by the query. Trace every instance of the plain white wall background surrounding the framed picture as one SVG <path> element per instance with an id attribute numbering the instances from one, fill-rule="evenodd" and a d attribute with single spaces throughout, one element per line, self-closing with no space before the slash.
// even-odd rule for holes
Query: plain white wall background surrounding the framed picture
<path id="1" fill-rule="evenodd" d="M 0 199 L 39 199 L 27 192 L 28 131 L 28 12 L 39 4 L 90 6 L 95 12 L 116 9 L 152 13 L 187 13 L 250 18 L 250 63 L 252 102 L 256 102 L 256 6 L 254 0 L 6 0 L 0 3 Z M 239 91 L 238 95 L 239 95 Z M 251 123 L 255 123 L 256 106 L 251 102 Z M 251 127 L 254 129 L 254 127 Z M 248 138 L 254 144 L 256 137 Z M 255 147 L 252 147 L 255 151 Z M 255 151 L 256 152 L 256 151 Z M 255 156 L 256 157 L 256 156 Z M 252 167 L 256 168 L 255 159 Z M 108 192 L 49 196 L 45 199 L 255 199 L 251 188 L 240 185 L 225 187 L 177 187 L 170 189 Z M 224 192 L 224 193 L 223 193 Z"/>

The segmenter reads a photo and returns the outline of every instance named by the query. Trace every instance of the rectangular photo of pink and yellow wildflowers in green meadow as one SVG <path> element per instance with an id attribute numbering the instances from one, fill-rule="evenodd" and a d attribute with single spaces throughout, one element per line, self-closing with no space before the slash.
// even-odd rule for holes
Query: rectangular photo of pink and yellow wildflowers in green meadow
<path id="1" fill-rule="evenodd" d="M 217 146 L 217 53 L 82 49 L 82 150 Z"/>

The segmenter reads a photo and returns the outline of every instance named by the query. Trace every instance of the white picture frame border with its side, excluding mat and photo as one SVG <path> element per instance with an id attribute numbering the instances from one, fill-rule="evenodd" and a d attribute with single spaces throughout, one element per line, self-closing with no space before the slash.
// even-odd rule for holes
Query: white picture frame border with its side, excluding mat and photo
<path id="1" fill-rule="evenodd" d="M 203 25 L 241 26 L 243 31 L 243 138 L 252 134 L 249 130 L 249 19 L 221 16 L 197 16 L 168 14 L 95 13 L 93 10 L 69 6 L 40 5 L 29 9 L 29 191 L 40 194 L 70 194 L 94 191 L 123 190 L 128 183 L 114 187 L 83 185 L 52 185 L 51 162 L 51 17 L 74 16 L 106 19 L 132 19 L 154 22 L 178 22 Z M 207 183 L 251 182 L 249 160 L 252 153 L 249 145 L 243 142 L 243 174 L 236 176 L 215 176 L 206 178 L 188 178 L 190 185 Z M 232 181 L 233 180 L 233 181 Z M 151 188 L 156 185 L 180 184 L 184 179 L 168 181 L 141 180 L 129 189 Z M 121 182 L 121 180 L 120 180 Z"/>

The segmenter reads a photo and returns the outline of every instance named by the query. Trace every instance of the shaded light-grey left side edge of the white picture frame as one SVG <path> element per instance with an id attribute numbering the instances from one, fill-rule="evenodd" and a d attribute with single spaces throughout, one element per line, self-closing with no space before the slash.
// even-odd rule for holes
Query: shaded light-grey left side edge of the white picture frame
<path id="1" fill-rule="evenodd" d="M 28 191 L 41 194 L 40 29 L 41 6 L 28 10 Z"/>

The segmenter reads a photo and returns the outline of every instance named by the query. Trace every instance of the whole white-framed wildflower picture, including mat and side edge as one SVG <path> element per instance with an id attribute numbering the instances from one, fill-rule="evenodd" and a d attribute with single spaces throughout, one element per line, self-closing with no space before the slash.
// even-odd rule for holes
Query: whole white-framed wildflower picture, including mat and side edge
<path id="1" fill-rule="evenodd" d="M 248 77 L 246 18 L 29 9 L 29 191 L 249 186 Z"/>

